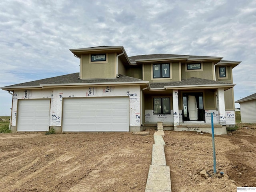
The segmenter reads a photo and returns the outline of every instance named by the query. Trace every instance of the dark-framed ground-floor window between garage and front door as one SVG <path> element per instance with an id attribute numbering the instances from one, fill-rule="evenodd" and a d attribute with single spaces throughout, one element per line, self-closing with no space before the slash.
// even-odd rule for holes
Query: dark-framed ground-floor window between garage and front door
<path id="1" fill-rule="evenodd" d="M 170 98 L 154 98 L 154 114 L 171 114 Z"/>

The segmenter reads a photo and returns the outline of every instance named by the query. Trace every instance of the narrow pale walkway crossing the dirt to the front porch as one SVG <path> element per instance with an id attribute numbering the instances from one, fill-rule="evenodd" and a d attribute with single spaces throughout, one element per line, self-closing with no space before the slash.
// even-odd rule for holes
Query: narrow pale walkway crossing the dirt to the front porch
<path id="1" fill-rule="evenodd" d="M 170 166 L 166 166 L 164 153 L 165 142 L 162 138 L 163 129 L 154 134 L 152 161 L 148 172 L 145 192 L 171 192 Z"/>

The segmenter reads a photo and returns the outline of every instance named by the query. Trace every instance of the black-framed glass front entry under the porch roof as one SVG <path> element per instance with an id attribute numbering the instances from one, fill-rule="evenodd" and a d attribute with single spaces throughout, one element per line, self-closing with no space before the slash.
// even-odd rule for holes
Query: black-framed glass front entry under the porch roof
<path id="1" fill-rule="evenodd" d="M 204 121 L 203 93 L 183 93 L 183 121 Z"/>

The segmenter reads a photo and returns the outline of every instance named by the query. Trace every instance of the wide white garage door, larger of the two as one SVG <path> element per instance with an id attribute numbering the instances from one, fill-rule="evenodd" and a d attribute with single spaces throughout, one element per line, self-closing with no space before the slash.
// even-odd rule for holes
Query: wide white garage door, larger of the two
<path id="1" fill-rule="evenodd" d="M 65 98 L 64 132 L 129 131 L 129 98 Z"/>

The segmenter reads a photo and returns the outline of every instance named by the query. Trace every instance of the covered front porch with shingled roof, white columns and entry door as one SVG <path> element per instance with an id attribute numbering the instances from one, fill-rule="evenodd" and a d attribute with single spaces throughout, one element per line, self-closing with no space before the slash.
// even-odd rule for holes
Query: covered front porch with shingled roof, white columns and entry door
<path id="1" fill-rule="evenodd" d="M 226 134 L 224 91 L 234 84 L 189 78 L 180 82 L 150 83 L 142 90 L 142 129 L 211 133 L 211 113 L 215 134 Z"/>

